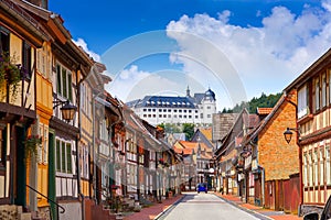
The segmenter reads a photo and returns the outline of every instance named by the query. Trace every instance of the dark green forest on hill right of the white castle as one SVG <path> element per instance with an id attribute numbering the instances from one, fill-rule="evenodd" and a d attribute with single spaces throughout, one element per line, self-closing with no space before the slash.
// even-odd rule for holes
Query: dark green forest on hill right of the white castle
<path id="1" fill-rule="evenodd" d="M 259 98 L 254 97 L 248 102 L 243 101 L 242 103 L 237 103 L 233 109 L 224 108 L 222 110 L 222 113 L 238 113 L 244 108 L 246 108 L 249 111 L 249 113 L 256 113 L 257 107 L 258 108 L 273 108 L 277 103 L 280 96 L 281 96 L 281 92 L 278 92 L 276 95 L 270 94 L 268 96 L 263 92 Z"/>

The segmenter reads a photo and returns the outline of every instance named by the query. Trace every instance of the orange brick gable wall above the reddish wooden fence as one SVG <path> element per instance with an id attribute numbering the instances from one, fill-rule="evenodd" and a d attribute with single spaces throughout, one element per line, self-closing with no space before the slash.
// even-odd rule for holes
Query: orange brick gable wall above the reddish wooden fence
<path id="1" fill-rule="evenodd" d="M 258 164 L 265 168 L 265 180 L 288 179 L 289 175 L 299 173 L 297 135 L 293 132 L 288 144 L 284 139 L 286 128 L 296 128 L 296 107 L 287 100 L 258 135 Z"/>

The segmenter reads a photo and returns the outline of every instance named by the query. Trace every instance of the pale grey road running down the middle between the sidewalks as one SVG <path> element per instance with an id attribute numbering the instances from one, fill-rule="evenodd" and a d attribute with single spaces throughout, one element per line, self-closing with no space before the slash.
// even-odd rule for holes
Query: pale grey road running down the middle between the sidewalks
<path id="1" fill-rule="evenodd" d="M 258 218 L 227 204 L 212 194 L 190 193 L 171 207 L 162 220 L 256 220 Z"/>

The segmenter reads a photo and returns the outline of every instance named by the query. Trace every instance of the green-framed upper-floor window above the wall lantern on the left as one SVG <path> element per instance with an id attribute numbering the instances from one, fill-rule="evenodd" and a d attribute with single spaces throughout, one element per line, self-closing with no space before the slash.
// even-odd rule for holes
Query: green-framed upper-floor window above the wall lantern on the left
<path id="1" fill-rule="evenodd" d="M 56 64 L 56 76 L 57 94 L 73 101 L 72 73 L 61 64 Z"/>

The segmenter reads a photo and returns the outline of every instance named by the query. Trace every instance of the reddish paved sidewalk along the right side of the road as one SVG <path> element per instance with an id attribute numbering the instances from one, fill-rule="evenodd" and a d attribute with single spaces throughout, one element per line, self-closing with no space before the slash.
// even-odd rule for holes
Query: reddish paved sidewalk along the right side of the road
<path id="1" fill-rule="evenodd" d="M 266 219 L 275 219 L 275 220 L 302 220 L 302 217 L 298 217 L 295 215 L 287 215 L 284 213 L 282 211 L 275 211 L 270 209 L 265 209 L 263 207 L 257 207 L 250 204 L 245 204 L 241 200 L 239 197 L 233 196 L 233 195 L 222 195 L 220 193 L 214 193 L 216 196 L 223 198 L 229 204 L 233 204 L 243 210 L 246 210 L 248 212 L 257 213 L 257 215 L 263 215 Z"/>

